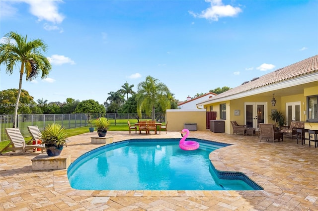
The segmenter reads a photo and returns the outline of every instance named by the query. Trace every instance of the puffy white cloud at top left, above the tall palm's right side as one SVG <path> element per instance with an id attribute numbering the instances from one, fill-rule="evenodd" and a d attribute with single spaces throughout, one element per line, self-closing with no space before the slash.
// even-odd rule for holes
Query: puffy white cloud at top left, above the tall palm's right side
<path id="1" fill-rule="evenodd" d="M 62 23 L 64 15 L 58 11 L 58 3 L 62 0 L 23 0 L 30 5 L 32 15 L 38 17 L 38 21 L 46 20 L 56 23 Z"/>

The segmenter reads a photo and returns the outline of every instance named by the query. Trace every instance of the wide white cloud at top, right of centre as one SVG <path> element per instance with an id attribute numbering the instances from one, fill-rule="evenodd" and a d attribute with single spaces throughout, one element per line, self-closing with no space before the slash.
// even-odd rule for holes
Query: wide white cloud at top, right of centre
<path id="1" fill-rule="evenodd" d="M 211 6 L 205 10 L 203 10 L 200 14 L 197 14 L 193 11 L 189 11 L 189 13 L 193 17 L 205 18 L 212 21 L 218 21 L 220 17 L 234 17 L 240 12 L 242 12 L 241 8 L 234 7 L 232 5 L 224 5 L 222 0 L 205 0 L 206 2 L 210 2 Z"/>

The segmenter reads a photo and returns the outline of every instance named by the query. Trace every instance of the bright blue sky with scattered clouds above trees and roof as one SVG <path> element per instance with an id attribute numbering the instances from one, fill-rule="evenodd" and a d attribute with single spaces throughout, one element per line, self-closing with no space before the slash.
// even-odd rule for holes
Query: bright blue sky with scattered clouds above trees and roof
<path id="1" fill-rule="evenodd" d="M 22 82 L 34 101 L 102 104 L 148 75 L 185 101 L 318 54 L 317 11 L 317 0 L 1 0 L 0 37 L 48 45 L 48 78 Z M 19 66 L 0 68 L 0 89 L 17 89 Z"/>

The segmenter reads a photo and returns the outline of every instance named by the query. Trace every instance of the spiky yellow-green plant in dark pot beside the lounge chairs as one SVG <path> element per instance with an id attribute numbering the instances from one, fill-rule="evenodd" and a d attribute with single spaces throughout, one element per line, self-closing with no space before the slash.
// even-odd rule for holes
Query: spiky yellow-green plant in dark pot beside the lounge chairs
<path id="1" fill-rule="evenodd" d="M 49 124 L 41 132 L 42 144 L 45 144 L 46 153 L 48 156 L 59 156 L 66 146 L 69 134 L 65 132 L 65 128 L 61 124 Z"/>

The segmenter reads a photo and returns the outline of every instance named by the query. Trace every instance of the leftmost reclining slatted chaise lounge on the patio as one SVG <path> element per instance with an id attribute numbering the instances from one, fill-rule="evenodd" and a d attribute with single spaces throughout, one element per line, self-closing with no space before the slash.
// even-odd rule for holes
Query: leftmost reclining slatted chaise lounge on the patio
<path id="1" fill-rule="evenodd" d="M 24 153 L 27 150 L 33 151 L 33 149 L 35 148 L 41 149 L 41 152 L 43 153 L 43 150 L 45 149 L 45 146 L 43 144 L 26 145 L 19 128 L 5 128 L 5 133 L 9 137 L 10 143 L 1 150 L 0 154 L 4 150 L 21 150 Z"/>

